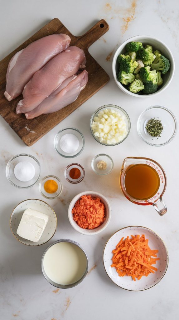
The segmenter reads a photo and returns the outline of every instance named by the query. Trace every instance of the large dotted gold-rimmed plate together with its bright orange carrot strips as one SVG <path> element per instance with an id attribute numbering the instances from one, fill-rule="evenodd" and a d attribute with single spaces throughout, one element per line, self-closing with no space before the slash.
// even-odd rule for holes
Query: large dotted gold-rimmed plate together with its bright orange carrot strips
<path id="1" fill-rule="evenodd" d="M 153 287 L 168 268 L 168 252 L 153 230 L 130 226 L 122 228 L 107 241 L 103 252 L 104 268 L 119 287 L 142 291 Z"/>

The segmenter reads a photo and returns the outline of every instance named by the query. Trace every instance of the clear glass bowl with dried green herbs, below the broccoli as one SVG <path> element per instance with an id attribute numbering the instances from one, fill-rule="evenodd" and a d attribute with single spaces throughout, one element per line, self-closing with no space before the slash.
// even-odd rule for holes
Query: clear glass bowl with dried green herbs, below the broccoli
<path id="1" fill-rule="evenodd" d="M 164 146 L 175 137 L 177 121 L 169 109 L 153 106 L 139 116 L 137 131 L 140 138 L 151 146 Z"/>

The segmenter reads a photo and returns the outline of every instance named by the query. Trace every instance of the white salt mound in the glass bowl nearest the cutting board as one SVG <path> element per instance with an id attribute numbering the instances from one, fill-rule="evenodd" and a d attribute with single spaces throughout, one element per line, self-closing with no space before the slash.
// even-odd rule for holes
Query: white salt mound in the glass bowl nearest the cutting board
<path id="1" fill-rule="evenodd" d="M 66 153 L 74 153 L 77 151 L 78 147 L 79 140 L 72 133 L 64 134 L 64 136 L 62 136 L 60 139 L 60 148 Z"/>

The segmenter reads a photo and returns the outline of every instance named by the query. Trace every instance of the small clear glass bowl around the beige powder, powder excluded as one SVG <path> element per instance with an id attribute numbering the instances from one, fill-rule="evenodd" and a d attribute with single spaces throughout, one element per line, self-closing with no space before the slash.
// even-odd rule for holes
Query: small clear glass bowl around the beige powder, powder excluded
<path id="1" fill-rule="evenodd" d="M 105 170 L 100 170 L 97 167 L 98 162 L 101 160 L 105 161 L 107 164 L 107 167 Z M 102 154 L 102 153 L 100 155 L 95 156 L 91 162 L 91 167 L 92 167 L 93 171 L 96 174 L 100 174 L 100 175 L 106 175 L 109 172 L 111 172 L 113 169 L 113 166 L 114 166 L 113 159 L 110 156 L 108 156 L 106 154 Z"/>

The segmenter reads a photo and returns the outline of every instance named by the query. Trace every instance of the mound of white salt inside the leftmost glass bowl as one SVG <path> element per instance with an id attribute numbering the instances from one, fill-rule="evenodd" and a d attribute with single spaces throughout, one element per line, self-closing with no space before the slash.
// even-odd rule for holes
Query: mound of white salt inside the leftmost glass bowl
<path id="1" fill-rule="evenodd" d="M 29 161 L 21 161 L 16 164 L 14 168 L 15 177 L 23 182 L 29 181 L 34 178 L 35 168 Z"/>

